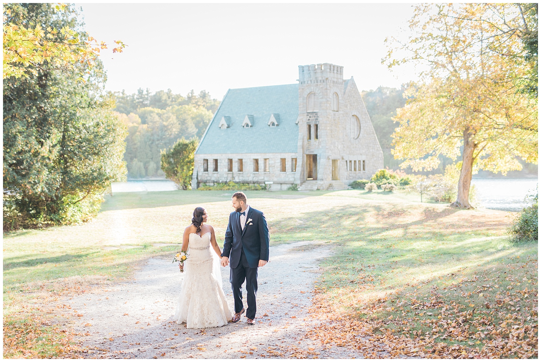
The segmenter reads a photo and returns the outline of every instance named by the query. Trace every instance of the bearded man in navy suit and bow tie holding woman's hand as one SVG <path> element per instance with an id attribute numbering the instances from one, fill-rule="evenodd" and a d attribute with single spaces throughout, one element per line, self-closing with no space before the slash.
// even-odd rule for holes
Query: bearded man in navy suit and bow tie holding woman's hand
<path id="1" fill-rule="evenodd" d="M 232 202 L 235 211 L 229 214 L 222 252 L 222 267 L 226 267 L 231 259 L 229 281 L 235 298 L 235 314 L 231 322 L 239 322 L 244 313 L 242 283 L 246 280 L 247 323 L 255 324 L 258 267 L 263 267 L 269 259 L 269 229 L 265 215 L 248 206 L 243 192 L 234 193 Z"/>

